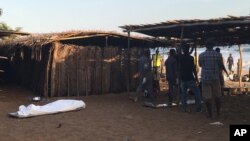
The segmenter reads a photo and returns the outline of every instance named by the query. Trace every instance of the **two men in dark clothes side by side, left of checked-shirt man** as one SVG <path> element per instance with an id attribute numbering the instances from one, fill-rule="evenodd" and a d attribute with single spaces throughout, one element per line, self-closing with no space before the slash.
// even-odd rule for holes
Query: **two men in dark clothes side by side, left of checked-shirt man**
<path id="1" fill-rule="evenodd" d="M 178 91 L 177 86 L 180 81 L 181 105 L 183 111 L 190 111 L 187 106 L 187 91 L 190 89 L 195 96 L 196 112 L 201 112 L 201 94 L 198 88 L 198 76 L 194 57 L 190 55 L 190 46 L 188 44 L 183 44 L 182 52 L 181 55 L 177 55 L 175 49 L 170 49 L 169 57 L 165 61 L 166 79 L 169 86 L 169 92 L 167 94 L 168 105 L 172 105 L 173 94 L 175 91 Z M 180 76 L 180 78 L 178 78 L 178 76 Z"/>

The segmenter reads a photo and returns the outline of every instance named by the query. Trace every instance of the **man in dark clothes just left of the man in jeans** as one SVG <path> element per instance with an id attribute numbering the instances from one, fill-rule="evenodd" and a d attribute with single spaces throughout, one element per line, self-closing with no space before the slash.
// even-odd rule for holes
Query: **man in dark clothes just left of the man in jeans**
<path id="1" fill-rule="evenodd" d="M 170 49 L 168 59 L 165 61 L 166 78 L 168 81 L 168 104 L 172 105 L 173 95 L 177 87 L 177 61 L 175 58 L 176 52 Z"/>

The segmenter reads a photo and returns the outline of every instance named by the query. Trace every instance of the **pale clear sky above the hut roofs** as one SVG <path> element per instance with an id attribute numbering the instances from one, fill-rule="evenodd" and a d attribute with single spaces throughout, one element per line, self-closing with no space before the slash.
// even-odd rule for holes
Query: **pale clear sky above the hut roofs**
<path id="1" fill-rule="evenodd" d="M 247 16 L 250 0 L 0 0 L 4 21 L 32 33 L 112 30 L 173 19 Z"/>

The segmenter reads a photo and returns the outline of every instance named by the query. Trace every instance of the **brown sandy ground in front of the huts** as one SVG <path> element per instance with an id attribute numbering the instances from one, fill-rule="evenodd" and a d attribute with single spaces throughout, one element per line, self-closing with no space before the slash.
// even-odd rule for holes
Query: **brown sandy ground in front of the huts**
<path id="1" fill-rule="evenodd" d="M 214 120 L 207 119 L 205 113 L 183 113 L 179 107 L 144 107 L 142 100 L 130 101 L 128 93 L 71 97 L 82 99 L 87 108 L 16 119 L 7 114 L 17 111 L 22 104 L 33 103 L 30 97 L 34 93 L 18 86 L 1 86 L 1 90 L 1 141 L 228 141 L 229 125 L 250 124 L 250 95 L 224 96 L 222 116 Z M 210 125 L 212 122 L 223 125 Z"/>

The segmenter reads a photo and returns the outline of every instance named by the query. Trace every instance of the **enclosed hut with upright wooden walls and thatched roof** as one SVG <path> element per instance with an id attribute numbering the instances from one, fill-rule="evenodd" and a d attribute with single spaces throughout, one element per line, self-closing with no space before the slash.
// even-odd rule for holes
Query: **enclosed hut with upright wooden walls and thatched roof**
<path id="1" fill-rule="evenodd" d="M 10 60 L 12 82 L 41 96 L 83 96 L 135 90 L 138 58 L 154 45 L 150 38 L 74 31 L 5 41 L 0 52 Z"/>

